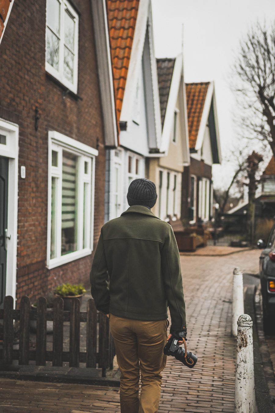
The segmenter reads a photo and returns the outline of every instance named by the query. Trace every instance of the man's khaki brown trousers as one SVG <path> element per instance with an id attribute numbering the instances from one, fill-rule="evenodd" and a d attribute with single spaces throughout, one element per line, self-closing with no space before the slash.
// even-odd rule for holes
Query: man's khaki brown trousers
<path id="1" fill-rule="evenodd" d="M 120 368 L 121 413 L 156 413 L 166 356 L 168 320 L 140 321 L 110 314 Z M 141 393 L 139 398 L 139 376 Z"/>

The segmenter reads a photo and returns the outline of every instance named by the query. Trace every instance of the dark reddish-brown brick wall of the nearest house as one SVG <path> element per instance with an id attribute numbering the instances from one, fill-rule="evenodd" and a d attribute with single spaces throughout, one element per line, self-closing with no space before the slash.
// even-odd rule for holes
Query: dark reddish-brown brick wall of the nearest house
<path id="1" fill-rule="evenodd" d="M 96 148 L 94 243 L 104 219 L 105 151 L 90 0 L 79 4 L 78 95 L 67 94 L 45 72 L 46 0 L 15 1 L 0 45 L 0 117 L 19 124 L 17 299 L 36 298 L 61 282 L 89 286 L 92 256 L 46 268 L 48 131 Z M 35 107 L 40 120 L 35 132 Z"/>

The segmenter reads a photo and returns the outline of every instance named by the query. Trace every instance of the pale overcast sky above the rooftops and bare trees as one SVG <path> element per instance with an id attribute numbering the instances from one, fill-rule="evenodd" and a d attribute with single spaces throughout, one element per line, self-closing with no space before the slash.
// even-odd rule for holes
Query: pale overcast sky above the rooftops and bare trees
<path id="1" fill-rule="evenodd" d="M 221 150 L 226 157 L 238 142 L 235 98 L 228 84 L 230 66 L 251 25 L 257 19 L 260 23 L 275 20 L 275 1 L 152 0 L 152 12 L 156 57 L 175 57 L 181 52 L 183 25 L 185 81 L 214 80 Z M 214 165 L 214 186 L 226 187 L 232 174 L 233 165 Z"/>

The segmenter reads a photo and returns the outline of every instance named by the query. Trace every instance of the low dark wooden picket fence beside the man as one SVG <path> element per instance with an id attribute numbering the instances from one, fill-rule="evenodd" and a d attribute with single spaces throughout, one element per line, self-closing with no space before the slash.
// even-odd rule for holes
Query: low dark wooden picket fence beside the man
<path id="1" fill-rule="evenodd" d="M 31 309 L 30 299 L 26 296 L 21 298 L 20 309 L 14 310 L 13 306 L 13 297 L 7 296 L 4 308 L 0 309 L 0 320 L 3 320 L 0 360 L 3 366 L 12 364 L 13 360 L 18 360 L 21 365 L 28 365 L 30 360 L 34 360 L 36 366 L 45 366 L 46 361 L 52 361 L 52 366 L 63 366 L 63 362 L 68 362 L 70 367 L 86 363 L 86 367 L 101 368 L 103 377 L 106 368 L 112 368 L 115 347 L 109 319 L 96 311 L 93 299 L 87 301 L 87 312 L 80 311 L 79 299 L 72 300 L 71 311 L 64 311 L 60 297 L 54 299 L 53 309 L 47 309 L 45 297 L 39 297 L 37 309 Z M 14 320 L 19 320 L 19 349 L 13 348 Z M 29 348 L 30 320 L 36 320 L 35 349 Z M 53 321 L 52 351 L 47 351 L 47 321 Z M 70 322 L 69 351 L 63 351 L 64 321 Z M 80 351 L 80 322 L 86 323 L 86 352 Z"/>

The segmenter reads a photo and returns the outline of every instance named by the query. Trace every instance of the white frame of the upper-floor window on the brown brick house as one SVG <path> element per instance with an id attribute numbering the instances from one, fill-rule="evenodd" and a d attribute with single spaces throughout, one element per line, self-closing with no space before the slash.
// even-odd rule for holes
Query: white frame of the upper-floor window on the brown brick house
<path id="1" fill-rule="evenodd" d="M 48 31 L 48 22 L 47 22 L 47 9 L 48 9 L 48 0 L 46 7 L 46 52 L 45 52 L 45 69 L 46 71 L 54 76 L 60 83 L 62 83 L 66 88 L 71 90 L 73 93 L 78 93 L 78 26 L 79 26 L 79 16 L 75 9 L 67 0 L 58 0 L 60 3 L 60 34 L 59 34 L 59 70 L 54 69 L 47 62 L 47 31 Z M 73 83 L 68 81 L 63 74 L 64 67 L 64 14 L 66 9 L 74 17 L 75 21 L 75 38 L 74 38 L 74 62 L 73 62 Z M 50 28 L 51 29 L 51 28 Z M 52 30 L 53 31 L 53 30 Z M 54 31 L 53 31 L 54 33 Z"/>

